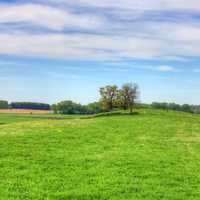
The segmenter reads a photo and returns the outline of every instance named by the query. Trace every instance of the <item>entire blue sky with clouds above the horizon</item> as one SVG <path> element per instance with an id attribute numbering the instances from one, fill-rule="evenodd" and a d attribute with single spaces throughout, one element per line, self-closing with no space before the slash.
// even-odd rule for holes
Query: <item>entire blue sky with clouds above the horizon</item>
<path id="1" fill-rule="evenodd" d="M 99 99 L 137 83 L 140 101 L 200 104 L 198 0 L 0 0 L 0 99 Z"/>

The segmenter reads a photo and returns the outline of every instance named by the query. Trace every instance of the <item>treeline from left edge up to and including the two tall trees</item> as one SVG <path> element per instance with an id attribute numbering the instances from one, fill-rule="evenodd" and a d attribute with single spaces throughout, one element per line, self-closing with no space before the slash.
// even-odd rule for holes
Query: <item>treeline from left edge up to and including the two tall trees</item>
<path id="1" fill-rule="evenodd" d="M 33 109 L 53 110 L 58 114 L 98 114 L 114 110 L 129 109 L 133 112 L 138 98 L 138 87 L 136 84 L 126 83 L 119 88 L 117 85 L 107 85 L 99 89 L 100 100 L 98 102 L 82 105 L 71 100 L 61 101 L 49 105 L 35 102 L 12 102 L 0 101 L 0 109 Z"/>

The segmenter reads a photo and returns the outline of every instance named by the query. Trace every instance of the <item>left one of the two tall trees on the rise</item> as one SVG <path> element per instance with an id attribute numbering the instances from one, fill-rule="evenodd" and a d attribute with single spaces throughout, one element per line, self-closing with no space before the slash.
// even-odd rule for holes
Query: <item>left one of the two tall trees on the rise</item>
<path id="1" fill-rule="evenodd" d="M 107 85 L 100 88 L 102 107 L 106 111 L 111 111 L 116 106 L 118 89 L 116 85 Z"/>

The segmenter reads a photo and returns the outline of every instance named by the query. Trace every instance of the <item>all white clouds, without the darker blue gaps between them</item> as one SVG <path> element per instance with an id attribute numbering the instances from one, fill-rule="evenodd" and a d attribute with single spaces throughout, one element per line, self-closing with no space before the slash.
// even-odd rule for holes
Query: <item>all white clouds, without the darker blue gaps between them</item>
<path id="1" fill-rule="evenodd" d="M 59 2 L 63 2 L 62 0 Z M 70 3 L 69 1 L 65 1 Z M 182 9 L 181 0 L 77 0 L 71 4 L 140 9 Z M 151 3 L 150 3 L 151 2 Z M 171 4 L 169 4 L 171 2 Z M 56 1 L 56 4 L 58 1 Z M 194 1 L 190 1 L 192 5 Z M 178 6 L 179 5 L 179 6 Z M 196 3 L 196 8 L 200 7 Z M 131 12 L 129 12 L 130 14 Z M 123 12 L 121 13 L 123 15 Z M 138 13 L 137 13 L 138 14 Z M 141 14 L 139 12 L 139 14 Z M 105 17 L 106 18 L 106 17 Z M 39 4 L 0 5 L 0 23 L 26 22 L 54 30 L 93 29 L 96 34 L 0 33 L 0 54 L 79 60 L 181 59 L 200 55 L 200 24 L 159 21 L 122 23 L 97 14 L 75 14 L 68 9 Z M 16 32 L 18 34 L 16 34 Z M 100 33 L 104 33 L 100 35 Z M 172 71 L 161 66 L 160 71 Z"/>

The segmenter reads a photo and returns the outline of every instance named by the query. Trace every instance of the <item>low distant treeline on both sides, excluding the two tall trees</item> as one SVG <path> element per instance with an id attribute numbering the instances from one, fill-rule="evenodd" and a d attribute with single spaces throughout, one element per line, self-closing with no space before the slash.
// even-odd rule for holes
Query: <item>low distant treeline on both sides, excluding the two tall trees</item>
<path id="1" fill-rule="evenodd" d="M 166 102 L 153 102 L 152 104 L 136 103 L 135 108 L 154 108 L 162 110 L 174 110 L 188 113 L 200 114 L 200 105 L 190 104 L 177 104 L 177 103 L 166 103 Z M 87 105 L 75 103 L 71 100 L 62 101 L 58 104 L 45 104 L 36 102 L 13 102 L 0 100 L 0 109 L 31 109 L 31 110 L 52 110 L 55 113 L 60 114 L 98 114 L 106 112 L 100 102 L 93 102 Z M 63 112 L 60 112 L 62 110 Z M 116 107 L 114 110 L 119 110 Z"/>

